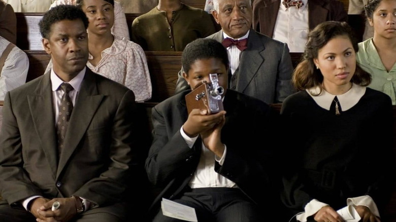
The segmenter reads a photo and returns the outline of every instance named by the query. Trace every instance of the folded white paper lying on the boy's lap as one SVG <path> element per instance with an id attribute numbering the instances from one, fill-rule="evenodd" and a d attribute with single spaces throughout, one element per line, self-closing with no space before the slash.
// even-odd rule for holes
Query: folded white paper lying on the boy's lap
<path id="1" fill-rule="evenodd" d="M 162 214 L 186 221 L 198 222 L 196 219 L 195 209 L 175 201 L 162 198 L 161 201 Z"/>

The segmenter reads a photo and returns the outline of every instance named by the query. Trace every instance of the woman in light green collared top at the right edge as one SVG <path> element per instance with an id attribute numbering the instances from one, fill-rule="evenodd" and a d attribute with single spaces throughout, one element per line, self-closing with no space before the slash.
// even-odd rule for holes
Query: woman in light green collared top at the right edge
<path id="1" fill-rule="evenodd" d="M 357 64 L 371 73 L 369 87 L 384 92 L 396 105 L 396 0 L 370 0 L 365 10 L 374 37 L 358 44 Z"/>

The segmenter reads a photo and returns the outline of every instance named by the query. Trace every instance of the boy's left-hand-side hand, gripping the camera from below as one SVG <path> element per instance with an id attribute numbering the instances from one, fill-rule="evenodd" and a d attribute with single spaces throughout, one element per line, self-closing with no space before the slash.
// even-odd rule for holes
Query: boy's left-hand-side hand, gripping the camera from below
<path id="1" fill-rule="evenodd" d="M 225 115 L 225 111 L 217 114 L 207 115 L 205 109 L 193 109 L 188 115 L 187 121 L 183 125 L 184 132 L 189 137 L 195 137 L 198 134 L 212 129 L 216 124 L 220 123 Z"/>

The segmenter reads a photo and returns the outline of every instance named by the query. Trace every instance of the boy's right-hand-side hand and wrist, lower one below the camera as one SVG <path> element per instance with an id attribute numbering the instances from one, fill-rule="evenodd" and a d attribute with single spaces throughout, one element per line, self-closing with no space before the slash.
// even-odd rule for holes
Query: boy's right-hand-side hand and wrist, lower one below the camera
<path id="1" fill-rule="evenodd" d="M 224 123 L 225 115 L 222 115 L 219 123 L 216 123 L 213 128 L 200 134 L 205 147 L 219 158 L 221 158 L 224 153 L 224 144 L 221 142 L 221 129 L 223 128 Z"/>

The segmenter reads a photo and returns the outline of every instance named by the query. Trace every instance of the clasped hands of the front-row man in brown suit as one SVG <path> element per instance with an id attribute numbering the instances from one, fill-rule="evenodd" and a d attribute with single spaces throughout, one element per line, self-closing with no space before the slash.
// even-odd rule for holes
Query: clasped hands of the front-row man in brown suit
<path id="1" fill-rule="evenodd" d="M 60 207 L 52 211 L 52 204 L 55 201 L 58 201 L 60 203 Z M 42 205 L 38 213 L 40 214 L 40 217 L 37 219 L 38 222 L 66 222 L 72 219 L 77 214 L 76 201 L 73 197 L 54 198 Z"/>

